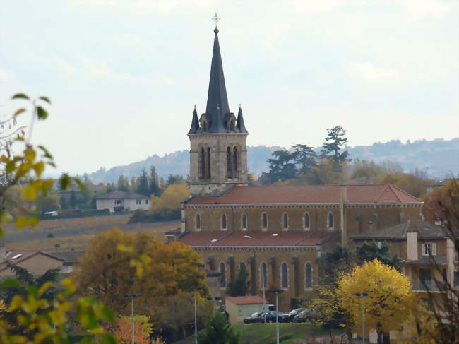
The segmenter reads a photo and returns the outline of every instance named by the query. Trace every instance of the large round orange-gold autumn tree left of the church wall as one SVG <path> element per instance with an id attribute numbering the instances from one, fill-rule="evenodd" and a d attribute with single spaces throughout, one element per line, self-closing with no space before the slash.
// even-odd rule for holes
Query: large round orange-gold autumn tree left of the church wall
<path id="1" fill-rule="evenodd" d="M 193 289 L 207 295 L 201 264 L 201 256 L 180 242 L 165 244 L 145 232 L 112 228 L 91 240 L 73 278 L 81 295 L 96 297 L 121 315 L 129 314 L 124 295 L 139 293 L 136 312 L 154 316 L 171 295 Z"/>

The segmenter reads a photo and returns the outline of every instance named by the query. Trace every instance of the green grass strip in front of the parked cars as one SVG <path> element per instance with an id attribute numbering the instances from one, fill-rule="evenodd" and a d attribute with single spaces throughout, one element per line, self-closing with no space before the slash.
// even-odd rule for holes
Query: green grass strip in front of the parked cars
<path id="1" fill-rule="evenodd" d="M 275 344 L 275 324 L 238 324 L 234 325 L 241 334 L 241 344 Z M 328 336 L 323 328 L 307 324 L 279 324 L 280 343 L 295 344 L 299 340 L 314 336 Z M 333 334 L 342 333 L 340 330 Z"/>

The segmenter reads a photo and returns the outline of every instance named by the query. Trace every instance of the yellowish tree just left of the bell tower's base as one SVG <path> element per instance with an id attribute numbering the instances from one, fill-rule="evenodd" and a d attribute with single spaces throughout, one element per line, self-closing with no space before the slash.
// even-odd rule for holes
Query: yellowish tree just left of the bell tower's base
<path id="1" fill-rule="evenodd" d="M 158 219 L 180 218 L 180 202 L 189 195 L 186 184 L 171 184 L 167 186 L 161 197 L 151 197 L 150 214 Z"/>

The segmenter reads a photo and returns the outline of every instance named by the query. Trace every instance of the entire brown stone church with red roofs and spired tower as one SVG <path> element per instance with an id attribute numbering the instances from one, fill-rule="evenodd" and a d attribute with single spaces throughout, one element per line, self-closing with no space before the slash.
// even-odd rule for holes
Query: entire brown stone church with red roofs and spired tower
<path id="1" fill-rule="evenodd" d="M 362 232 L 418 220 L 422 201 L 391 185 L 249 186 L 249 132 L 242 108 L 237 116 L 229 109 L 214 33 L 207 107 L 200 117 L 195 107 L 188 132 L 191 196 L 169 239 L 190 245 L 205 268 L 220 271 L 222 295 L 245 269 L 251 295 L 283 290 L 285 312 L 314 290 L 327 250 Z"/>

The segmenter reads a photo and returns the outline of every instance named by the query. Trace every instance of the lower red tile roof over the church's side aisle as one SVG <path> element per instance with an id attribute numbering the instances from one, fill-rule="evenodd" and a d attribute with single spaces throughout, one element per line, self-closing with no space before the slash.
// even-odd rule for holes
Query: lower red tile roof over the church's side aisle
<path id="1" fill-rule="evenodd" d="M 180 242 L 191 247 L 316 246 L 339 232 L 187 232 Z"/>

